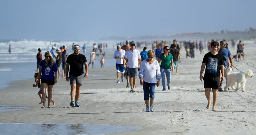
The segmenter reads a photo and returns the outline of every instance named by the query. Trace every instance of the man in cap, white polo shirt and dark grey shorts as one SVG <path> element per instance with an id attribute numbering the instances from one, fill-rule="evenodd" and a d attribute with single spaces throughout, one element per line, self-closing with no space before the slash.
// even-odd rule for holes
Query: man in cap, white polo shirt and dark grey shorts
<path id="1" fill-rule="evenodd" d="M 135 49 L 136 43 L 134 41 L 130 42 L 131 49 L 127 50 L 124 55 L 123 65 L 128 71 L 130 77 L 130 92 L 135 92 L 134 88 L 137 80 L 137 72 L 140 71 L 141 56 L 140 51 Z"/>

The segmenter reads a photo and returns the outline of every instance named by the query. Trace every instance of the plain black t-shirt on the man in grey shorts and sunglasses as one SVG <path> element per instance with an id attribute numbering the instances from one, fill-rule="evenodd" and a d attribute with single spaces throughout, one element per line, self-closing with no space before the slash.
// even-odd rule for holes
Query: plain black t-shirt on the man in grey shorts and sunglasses
<path id="1" fill-rule="evenodd" d="M 87 62 L 86 57 L 83 54 L 70 54 L 66 63 L 70 65 L 69 74 L 73 76 L 80 76 L 84 74 L 84 63 Z"/>

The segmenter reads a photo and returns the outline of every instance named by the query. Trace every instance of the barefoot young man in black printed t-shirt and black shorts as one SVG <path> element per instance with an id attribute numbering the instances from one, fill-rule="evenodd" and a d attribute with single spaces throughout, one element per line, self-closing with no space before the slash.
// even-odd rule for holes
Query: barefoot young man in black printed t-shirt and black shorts
<path id="1" fill-rule="evenodd" d="M 200 80 L 204 80 L 204 89 L 205 89 L 205 96 L 208 100 L 208 105 L 206 106 L 207 109 L 211 106 L 211 88 L 213 94 L 213 106 L 212 110 L 216 111 L 215 106 L 218 99 L 218 88 L 220 85 L 220 74 L 223 74 L 221 80 L 224 80 L 224 66 L 223 66 L 223 57 L 221 54 L 217 52 L 219 47 L 219 43 L 217 41 L 212 41 L 211 48 L 212 51 L 208 52 L 204 55 L 203 63 L 201 65 L 200 71 Z M 205 73 L 203 77 L 203 72 L 205 68 Z"/>

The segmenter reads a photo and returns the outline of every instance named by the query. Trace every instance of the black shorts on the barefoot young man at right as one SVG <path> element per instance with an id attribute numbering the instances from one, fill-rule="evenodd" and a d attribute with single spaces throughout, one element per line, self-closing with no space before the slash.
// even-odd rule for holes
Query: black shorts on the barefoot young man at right
<path id="1" fill-rule="evenodd" d="M 204 88 L 218 89 L 220 85 L 219 77 L 204 77 Z"/>

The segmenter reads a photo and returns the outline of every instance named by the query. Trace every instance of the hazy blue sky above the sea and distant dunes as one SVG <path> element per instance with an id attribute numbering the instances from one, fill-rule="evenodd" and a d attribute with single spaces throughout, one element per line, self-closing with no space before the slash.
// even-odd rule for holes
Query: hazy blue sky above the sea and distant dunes
<path id="1" fill-rule="evenodd" d="M 255 0 L 0 0 L 0 39 L 99 40 L 256 28 Z"/>

